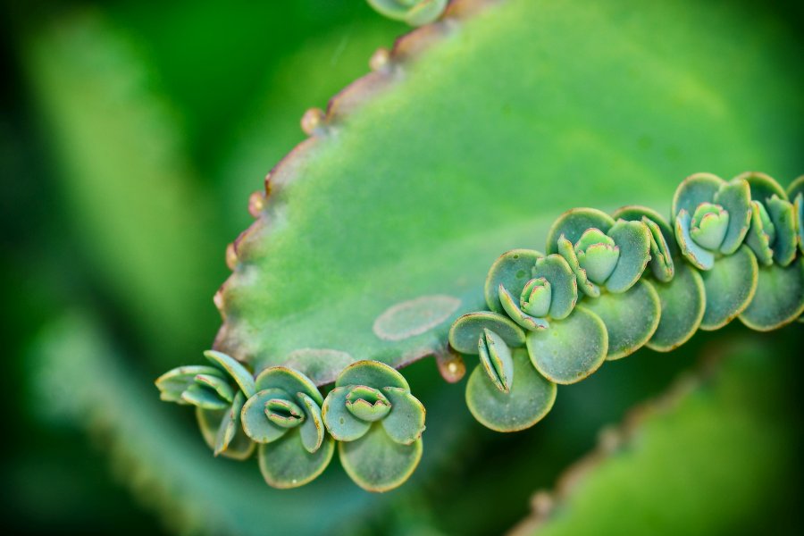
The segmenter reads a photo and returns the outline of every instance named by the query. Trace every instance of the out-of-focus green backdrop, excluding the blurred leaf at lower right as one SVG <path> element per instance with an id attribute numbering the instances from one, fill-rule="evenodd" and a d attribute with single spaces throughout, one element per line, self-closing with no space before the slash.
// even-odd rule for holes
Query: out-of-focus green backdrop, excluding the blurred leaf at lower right
<path id="1" fill-rule="evenodd" d="M 776 9 L 800 21 L 795 4 Z M 415 364 L 428 417 L 450 423 L 428 440 L 454 455 L 379 498 L 337 464 L 306 489 L 268 490 L 255 464 L 214 460 L 191 412 L 160 405 L 151 381 L 211 344 L 225 245 L 251 220 L 248 194 L 304 138 L 302 113 L 406 27 L 362 0 L 7 2 L 2 25 L 0 485 L 15 533 L 503 532 L 602 425 L 702 348 L 745 335 L 700 333 L 670 359 L 606 367 L 563 390 L 549 423 L 506 437 L 471 422 L 463 389 L 439 391 L 430 361 Z M 800 331 L 761 340 L 795 348 Z M 783 403 L 799 423 L 800 397 Z M 801 446 L 800 433 L 783 440 Z M 731 533 L 801 528 L 787 466 Z"/>

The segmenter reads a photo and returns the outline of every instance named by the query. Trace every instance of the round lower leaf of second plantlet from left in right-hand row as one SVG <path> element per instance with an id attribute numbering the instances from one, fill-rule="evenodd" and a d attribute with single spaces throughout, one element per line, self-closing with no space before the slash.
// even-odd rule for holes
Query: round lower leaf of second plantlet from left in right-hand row
<path id="1" fill-rule="evenodd" d="M 576 306 L 573 314 L 553 322 L 549 330 L 528 333 L 527 348 L 533 365 L 549 381 L 582 381 L 606 359 L 606 325 L 597 314 Z"/>

